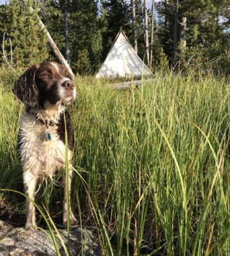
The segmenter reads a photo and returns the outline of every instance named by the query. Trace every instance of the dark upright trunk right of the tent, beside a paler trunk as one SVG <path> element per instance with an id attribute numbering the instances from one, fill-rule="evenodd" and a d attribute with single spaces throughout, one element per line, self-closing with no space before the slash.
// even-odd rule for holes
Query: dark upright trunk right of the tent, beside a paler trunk
<path id="1" fill-rule="evenodd" d="M 174 20 L 174 67 L 178 65 L 178 44 L 180 42 L 180 14 L 179 0 L 176 0 L 175 20 Z"/>

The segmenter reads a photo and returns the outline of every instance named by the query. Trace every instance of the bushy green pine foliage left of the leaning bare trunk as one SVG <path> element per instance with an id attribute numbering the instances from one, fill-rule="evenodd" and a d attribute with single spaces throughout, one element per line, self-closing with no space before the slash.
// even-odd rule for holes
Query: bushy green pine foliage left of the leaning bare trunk
<path id="1" fill-rule="evenodd" d="M 5 33 L 11 40 L 5 45 L 6 58 L 12 54 L 13 66 L 27 67 L 47 59 L 47 39 L 38 25 L 37 6 L 34 6 L 34 13 L 29 12 L 31 0 L 22 4 L 17 0 L 11 0 L 8 6 L 1 6 L 1 14 L 6 19 L 1 26 L 1 35 Z M 3 42 L 1 42 L 3 44 Z M 2 45 L 1 45 L 2 46 Z M 1 56 L 3 61 L 3 55 Z"/>

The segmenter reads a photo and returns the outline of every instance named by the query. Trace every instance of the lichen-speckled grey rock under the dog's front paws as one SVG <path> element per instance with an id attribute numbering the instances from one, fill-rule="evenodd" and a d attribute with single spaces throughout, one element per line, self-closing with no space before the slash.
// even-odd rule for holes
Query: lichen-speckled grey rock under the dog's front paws
<path id="1" fill-rule="evenodd" d="M 49 230 L 45 230 L 49 235 Z M 67 248 L 67 230 L 58 230 Z M 61 241 L 55 233 L 60 255 L 66 255 Z M 102 255 L 91 231 L 86 228 L 70 230 L 70 255 Z M 0 221 L 0 256 L 56 256 L 56 250 L 50 237 L 45 232 L 14 228 Z"/>

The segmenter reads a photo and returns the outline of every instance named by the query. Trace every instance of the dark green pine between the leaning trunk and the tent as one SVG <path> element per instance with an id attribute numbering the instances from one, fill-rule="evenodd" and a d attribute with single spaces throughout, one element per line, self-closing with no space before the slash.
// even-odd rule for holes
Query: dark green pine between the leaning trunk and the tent
<path id="1" fill-rule="evenodd" d="M 80 74 L 93 74 L 102 61 L 98 0 L 74 0 L 70 26 L 72 67 Z"/>

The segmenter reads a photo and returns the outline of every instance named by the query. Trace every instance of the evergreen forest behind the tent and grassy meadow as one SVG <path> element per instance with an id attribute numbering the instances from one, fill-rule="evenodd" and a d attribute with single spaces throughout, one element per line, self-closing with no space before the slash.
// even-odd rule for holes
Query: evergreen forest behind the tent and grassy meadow
<path id="1" fill-rule="evenodd" d="M 166 65 L 229 75 L 230 3 L 227 0 L 1 1 L 0 65 L 29 67 L 54 59 L 38 26 L 44 22 L 73 72 L 91 75 L 122 27 L 152 70 Z M 34 13 L 29 12 L 33 6 Z"/>

